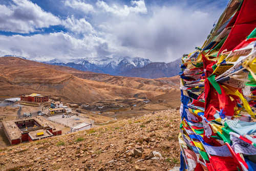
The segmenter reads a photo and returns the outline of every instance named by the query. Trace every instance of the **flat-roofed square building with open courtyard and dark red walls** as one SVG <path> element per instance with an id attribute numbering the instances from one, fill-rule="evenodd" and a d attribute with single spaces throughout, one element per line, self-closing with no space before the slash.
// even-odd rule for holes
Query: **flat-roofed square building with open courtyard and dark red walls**
<path id="1" fill-rule="evenodd" d="M 61 135 L 61 130 L 56 128 L 44 117 L 18 119 L 3 122 L 3 130 L 10 144 Z M 38 134 L 37 133 L 41 133 Z"/>

